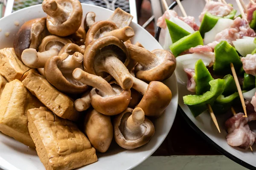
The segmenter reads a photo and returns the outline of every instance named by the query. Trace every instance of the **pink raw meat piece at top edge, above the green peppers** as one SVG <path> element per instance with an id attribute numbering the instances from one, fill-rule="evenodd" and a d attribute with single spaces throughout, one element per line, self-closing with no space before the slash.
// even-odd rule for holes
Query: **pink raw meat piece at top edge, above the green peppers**
<path id="1" fill-rule="evenodd" d="M 218 17 L 224 17 L 224 16 L 227 16 L 228 14 L 230 14 L 230 12 L 232 10 L 233 10 L 233 7 L 228 4 L 210 0 L 204 6 L 204 10 L 200 14 L 199 20 L 200 20 L 200 22 L 202 22 L 202 20 L 204 18 L 204 14 L 206 12 L 209 12 L 210 14 L 218 16 Z"/>

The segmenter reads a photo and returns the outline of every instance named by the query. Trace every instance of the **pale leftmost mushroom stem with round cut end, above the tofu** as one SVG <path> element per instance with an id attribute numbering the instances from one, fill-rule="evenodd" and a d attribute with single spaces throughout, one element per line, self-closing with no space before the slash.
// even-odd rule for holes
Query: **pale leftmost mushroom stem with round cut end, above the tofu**
<path id="1" fill-rule="evenodd" d="M 31 68 L 44 68 L 47 59 L 58 55 L 58 50 L 52 48 L 48 51 L 37 52 L 34 48 L 28 48 L 21 54 L 22 62 Z"/>

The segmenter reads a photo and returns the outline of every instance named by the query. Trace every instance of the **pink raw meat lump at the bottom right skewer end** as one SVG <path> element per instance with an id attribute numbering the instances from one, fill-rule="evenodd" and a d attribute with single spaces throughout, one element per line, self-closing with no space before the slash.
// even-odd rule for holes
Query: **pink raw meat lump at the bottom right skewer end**
<path id="1" fill-rule="evenodd" d="M 243 115 L 243 113 L 237 113 L 225 122 L 228 131 L 226 138 L 230 146 L 248 149 L 255 142 L 256 133 L 250 130 L 247 124 L 249 119 Z"/>

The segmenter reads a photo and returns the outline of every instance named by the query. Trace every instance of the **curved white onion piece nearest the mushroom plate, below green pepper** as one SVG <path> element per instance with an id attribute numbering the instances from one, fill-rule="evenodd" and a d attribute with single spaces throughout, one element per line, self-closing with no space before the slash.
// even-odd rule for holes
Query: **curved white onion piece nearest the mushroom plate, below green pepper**
<path id="1" fill-rule="evenodd" d="M 176 58 L 177 65 L 176 65 L 176 69 L 175 69 L 175 74 L 176 74 L 176 77 L 179 80 L 179 82 L 186 85 L 188 78 L 184 71 L 184 68 L 195 69 L 195 63 L 199 59 L 202 59 L 205 66 L 208 66 L 212 62 L 212 59 L 209 58 L 207 55 L 198 54 L 198 53 L 185 54 L 182 56 L 178 56 Z"/>

